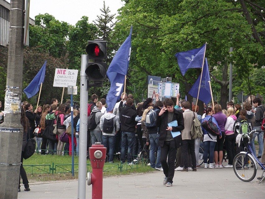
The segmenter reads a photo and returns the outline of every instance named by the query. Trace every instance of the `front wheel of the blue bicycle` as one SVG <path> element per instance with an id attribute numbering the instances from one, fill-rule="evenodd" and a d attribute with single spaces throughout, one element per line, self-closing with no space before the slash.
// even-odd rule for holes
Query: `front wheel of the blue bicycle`
<path id="1" fill-rule="evenodd" d="M 252 155 L 239 153 L 235 156 L 233 161 L 233 169 L 235 175 L 244 182 L 250 182 L 253 180 L 257 173 L 255 166 L 255 160 Z"/>

